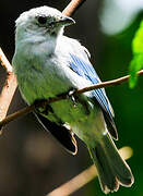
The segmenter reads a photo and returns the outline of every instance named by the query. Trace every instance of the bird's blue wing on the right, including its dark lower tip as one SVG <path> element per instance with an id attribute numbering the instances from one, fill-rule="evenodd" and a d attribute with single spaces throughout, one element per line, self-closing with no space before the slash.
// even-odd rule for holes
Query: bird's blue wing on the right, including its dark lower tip
<path id="1" fill-rule="evenodd" d="M 76 54 L 70 53 L 69 54 L 69 63 L 70 68 L 80 76 L 88 79 L 92 82 L 92 84 L 98 84 L 100 83 L 100 79 L 95 72 L 93 65 L 91 64 L 87 53 L 84 52 L 84 57 L 78 57 Z M 116 130 L 116 125 L 114 123 L 114 110 L 111 108 L 111 105 L 106 96 L 105 89 L 99 88 L 92 90 L 93 97 L 95 100 L 99 103 L 100 108 L 104 111 L 105 120 L 108 126 L 108 130 L 111 134 L 111 136 L 117 139 L 118 134 Z"/>

